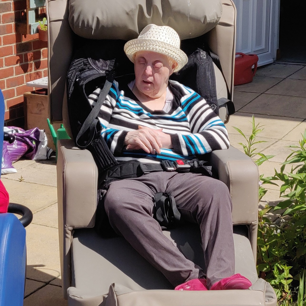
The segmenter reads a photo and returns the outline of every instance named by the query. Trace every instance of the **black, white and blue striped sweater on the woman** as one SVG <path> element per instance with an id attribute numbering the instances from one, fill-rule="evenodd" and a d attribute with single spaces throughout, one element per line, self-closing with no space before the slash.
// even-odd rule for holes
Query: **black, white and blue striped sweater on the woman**
<path id="1" fill-rule="evenodd" d="M 192 89 L 169 80 L 174 95 L 172 109 L 151 111 L 137 100 L 128 86 L 121 87 L 114 81 L 99 112 L 102 136 L 117 160 L 137 159 L 154 162 L 162 159 L 193 159 L 213 150 L 227 149 L 229 138 L 221 119 L 211 110 L 206 101 Z M 95 105 L 101 88 L 89 95 Z M 142 150 L 126 150 L 124 140 L 127 132 L 138 125 L 160 129 L 170 134 L 173 149 L 161 148 L 160 154 Z"/>

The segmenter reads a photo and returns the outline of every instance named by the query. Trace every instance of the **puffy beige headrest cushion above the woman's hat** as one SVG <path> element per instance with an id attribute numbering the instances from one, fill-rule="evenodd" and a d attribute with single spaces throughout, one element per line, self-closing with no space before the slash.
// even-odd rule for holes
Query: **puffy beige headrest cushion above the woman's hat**
<path id="1" fill-rule="evenodd" d="M 174 28 L 181 39 L 194 38 L 214 28 L 221 14 L 221 0 L 69 1 L 70 27 L 89 39 L 133 39 L 151 23 Z"/>

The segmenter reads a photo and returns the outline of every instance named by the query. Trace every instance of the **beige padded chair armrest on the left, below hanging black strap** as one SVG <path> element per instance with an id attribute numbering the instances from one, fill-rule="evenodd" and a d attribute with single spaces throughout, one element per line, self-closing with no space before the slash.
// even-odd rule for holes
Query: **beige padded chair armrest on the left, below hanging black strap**
<path id="1" fill-rule="evenodd" d="M 95 161 L 88 150 L 78 149 L 71 139 L 59 140 L 57 148 L 59 228 L 93 227 L 98 188 Z"/>

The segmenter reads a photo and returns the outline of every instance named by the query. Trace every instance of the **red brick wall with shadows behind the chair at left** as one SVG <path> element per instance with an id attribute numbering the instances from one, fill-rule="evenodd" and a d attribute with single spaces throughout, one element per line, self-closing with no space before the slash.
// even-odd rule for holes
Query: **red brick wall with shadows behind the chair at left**
<path id="1" fill-rule="evenodd" d="M 48 75 L 47 42 L 38 34 L 22 35 L 26 0 L 0 0 L 0 88 L 5 99 L 5 124 L 24 126 L 23 93 L 34 90 L 26 82 Z M 39 10 L 42 20 L 45 9 Z M 37 89 L 37 88 L 36 88 Z"/>

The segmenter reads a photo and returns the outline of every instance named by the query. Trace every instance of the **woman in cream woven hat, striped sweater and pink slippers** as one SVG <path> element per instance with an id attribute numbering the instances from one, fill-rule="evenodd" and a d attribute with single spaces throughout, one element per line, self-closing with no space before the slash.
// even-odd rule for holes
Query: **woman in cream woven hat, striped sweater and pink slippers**
<path id="1" fill-rule="evenodd" d="M 193 159 L 229 147 L 226 128 L 192 89 L 169 80 L 188 61 L 178 34 L 149 24 L 125 44 L 135 80 L 114 82 L 101 107 L 102 135 L 118 160 Z M 99 94 L 97 89 L 91 98 Z M 206 275 L 186 259 L 153 218 L 154 194 L 174 196 L 184 220 L 200 226 Z M 151 172 L 112 181 L 104 206 L 114 230 L 177 290 L 247 289 L 234 274 L 232 203 L 221 181 L 195 173 Z"/>

